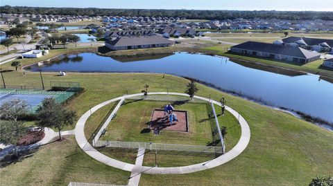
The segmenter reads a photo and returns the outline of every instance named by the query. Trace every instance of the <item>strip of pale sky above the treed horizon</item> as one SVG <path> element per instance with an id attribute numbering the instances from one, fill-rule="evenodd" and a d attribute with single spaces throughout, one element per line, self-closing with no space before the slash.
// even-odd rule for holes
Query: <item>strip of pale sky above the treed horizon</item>
<path id="1" fill-rule="evenodd" d="M 0 0 L 0 5 L 71 8 L 333 11 L 333 0 Z"/>

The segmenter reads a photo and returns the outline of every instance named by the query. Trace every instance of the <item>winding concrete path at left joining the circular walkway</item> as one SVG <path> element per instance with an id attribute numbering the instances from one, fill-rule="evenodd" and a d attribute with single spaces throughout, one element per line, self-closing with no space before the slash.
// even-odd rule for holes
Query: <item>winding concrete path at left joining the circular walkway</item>
<path id="1" fill-rule="evenodd" d="M 40 147 L 42 145 L 46 145 L 47 143 L 51 142 L 51 140 L 53 138 L 56 138 L 58 136 L 58 132 L 55 132 L 55 131 L 53 131 L 53 129 L 50 129 L 47 127 L 44 128 L 44 133 L 45 133 L 45 136 L 42 140 L 40 140 L 39 142 L 36 142 L 34 144 L 31 144 L 31 145 L 17 146 L 17 151 L 28 151 L 28 150 L 32 150 L 37 147 Z M 74 134 L 74 130 L 62 131 L 62 136 L 73 135 L 73 134 Z M 0 144 L 0 147 L 1 147 L 1 144 Z M 14 150 L 15 150 L 15 148 L 12 145 L 8 145 L 8 146 L 4 147 L 2 149 L 2 151 L 0 151 L 0 160 L 5 158 L 8 154 L 10 154 Z"/>

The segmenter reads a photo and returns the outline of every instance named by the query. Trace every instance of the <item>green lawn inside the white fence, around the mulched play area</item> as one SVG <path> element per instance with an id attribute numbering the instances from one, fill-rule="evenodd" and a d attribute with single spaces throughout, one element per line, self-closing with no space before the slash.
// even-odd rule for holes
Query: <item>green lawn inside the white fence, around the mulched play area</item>
<path id="1" fill-rule="evenodd" d="M 176 110 L 188 111 L 189 132 L 187 133 L 162 130 L 160 135 L 154 135 L 152 131 L 144 132 L 149 126 L 154 109 L 161 109 L 164 104 L 168 102 L 127 101 L 117 112 L 116 118 L 110 122 L 101 140 L 183 145 L 207 145 L 212 142 L 207 106 L 203 103 L 174 105 Z"/>

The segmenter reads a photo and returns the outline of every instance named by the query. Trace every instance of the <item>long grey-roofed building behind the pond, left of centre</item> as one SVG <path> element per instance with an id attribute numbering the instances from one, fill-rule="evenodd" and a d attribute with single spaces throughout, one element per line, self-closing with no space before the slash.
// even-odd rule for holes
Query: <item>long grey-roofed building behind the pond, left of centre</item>
<path id="1" fill-rule="evenodd" d="M 172 44 L 173 41 L 157 35 L 140 37 L 118 37 L 114 40 L 105 41 L 105 46 L 112 50 L 156 48 L 171 46 Z"/>

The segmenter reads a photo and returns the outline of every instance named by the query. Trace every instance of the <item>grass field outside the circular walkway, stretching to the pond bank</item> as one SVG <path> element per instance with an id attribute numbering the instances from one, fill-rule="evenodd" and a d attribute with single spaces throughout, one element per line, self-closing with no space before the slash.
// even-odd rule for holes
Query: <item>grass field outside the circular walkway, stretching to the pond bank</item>
<path id="1" fill-rule="evenodd" d="M 20 72 L 12 71 L 3 75 L 8 84 L 40 83 L 39 73 L 23 76 Z M 185 84 L 189 82 L 171 75 L 162 78 L 160 74 L 145 73 L 67 73 L 65 77 L 58 77 L 56 73 L 44 73 L 43 77 L 45 82 L 80 82 L 85 87 L 85 93 L 67 104 L 78 115 L 88 111 L 90 106 L 123 95 L 126 89 L 128 93 L 139 93 L 144 84 L 149 84 L 149 91 L 165 91 L 166 86 L 161 85 L 169 84 L 169 91 L 183 92 Z M 333 174 L 332 132 L 294 118 L 288 113 L 200 84 L 198 88 L 198 95 L 209 97 L 211 94 L 214 100 L 225 97 L 228 106 L 246 118 L 251 129 L 250 144 L 239 157 L 225 165 L 194 174 L 143 175 L 140 185 L 307 185 L 318 174 Z M 65 142 L 69 141 L 67 139 Z M 105 167 L 81 153 L 75 142 L 68 145 L 46 145 L 30 158 L 1 168 L 1 183 L 67 185 L 69 180 L 126 183 L 128 173 Z M 65 158 L 69 155 L 72 155 L 71 158 Z M 149 165 L 154 157 L 150 155 L 146 158 L 145 163 Z M 46 162 L 52 162 L 51 166 Z M 53 182 L 55 184 L 51 184 Z"/>

